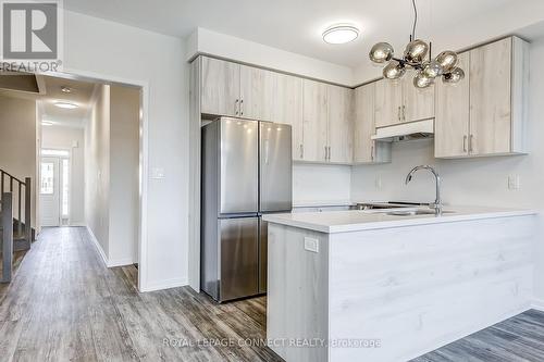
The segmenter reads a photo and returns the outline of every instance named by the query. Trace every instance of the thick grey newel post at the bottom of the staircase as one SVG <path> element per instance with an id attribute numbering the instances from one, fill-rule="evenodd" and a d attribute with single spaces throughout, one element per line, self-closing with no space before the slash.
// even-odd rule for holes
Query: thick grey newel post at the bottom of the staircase
<path id="1" fill-rule="evenodd" d="M 2 226 L 2 275 L 0 283 L 11 282 L 13 267 L 13 194 L 1 194 L 0 225 Z"/>

